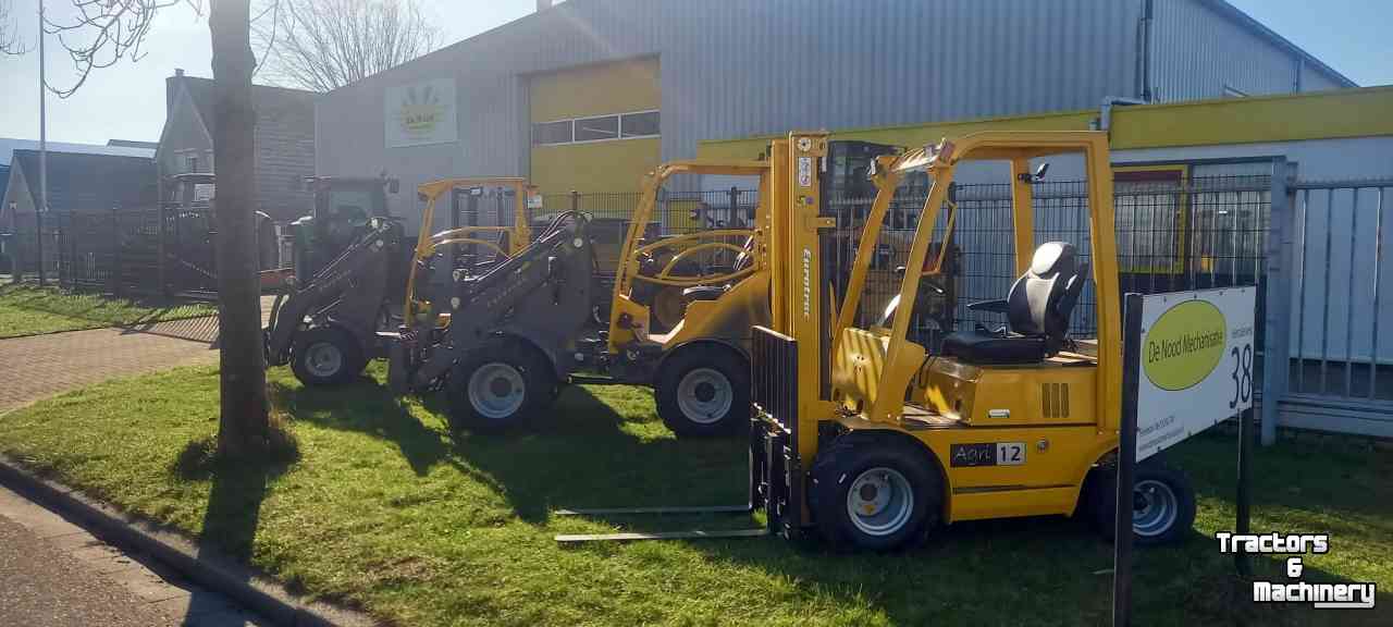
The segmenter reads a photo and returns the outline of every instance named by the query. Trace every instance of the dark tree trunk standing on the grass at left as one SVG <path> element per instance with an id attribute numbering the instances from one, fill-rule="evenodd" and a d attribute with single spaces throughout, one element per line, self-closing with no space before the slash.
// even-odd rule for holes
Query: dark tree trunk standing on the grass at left
<path id="1" fill-rule="evenodd" d="M 217 307 L 220 322 L 221 418 L 219 453 L 260 456 L 267 443 L 266 362 L 256 280 L 255 142 L 252 109 L 251 1 L 212 0 L 213 164 L 217 174 Z"/>

